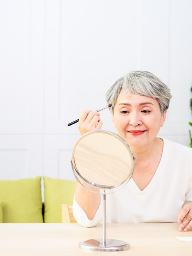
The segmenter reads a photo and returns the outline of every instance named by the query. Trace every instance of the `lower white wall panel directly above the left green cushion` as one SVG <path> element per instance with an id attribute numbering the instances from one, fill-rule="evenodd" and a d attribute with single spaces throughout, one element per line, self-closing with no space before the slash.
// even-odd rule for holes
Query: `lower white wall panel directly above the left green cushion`
<path id="1" fill-rule="evenodd" d="M 0 135 L 0 179 L 42 175 L 42 136 Z"/>

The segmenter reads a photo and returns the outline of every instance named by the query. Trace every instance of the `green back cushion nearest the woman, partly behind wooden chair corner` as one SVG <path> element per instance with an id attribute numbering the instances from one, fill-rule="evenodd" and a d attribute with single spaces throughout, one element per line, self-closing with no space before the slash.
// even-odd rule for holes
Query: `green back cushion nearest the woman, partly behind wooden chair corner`
<path id="1" fill-rule="evenodd" d="M 77 181 L 43 176 L 45 195 L 45 223 L 61 223 L 61 204 L 73 204 Z"/>

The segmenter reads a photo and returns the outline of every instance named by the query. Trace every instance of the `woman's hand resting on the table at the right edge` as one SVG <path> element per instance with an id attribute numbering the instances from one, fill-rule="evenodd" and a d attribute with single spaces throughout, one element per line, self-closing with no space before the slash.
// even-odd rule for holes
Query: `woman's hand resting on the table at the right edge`
<path id="1" fill-rule="evenodd" d="M 192 204 L 185 204 L 177 216 L 177 222 L 181 223 L 179 231 L 192 230 Z"/>

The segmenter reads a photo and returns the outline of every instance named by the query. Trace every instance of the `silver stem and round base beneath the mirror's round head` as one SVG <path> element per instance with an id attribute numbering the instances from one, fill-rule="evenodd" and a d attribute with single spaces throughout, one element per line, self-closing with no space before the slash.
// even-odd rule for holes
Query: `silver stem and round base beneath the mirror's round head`
<path id="1" fill-rule="evenodd" d="M 129 243 L 116 239 L 106 238 L 106 194 L 103 193 L 103 239 L 89 239 L 79 243 L 82 249 L 101 251 L 101 252 L 116 252 L 130 249 Z"/>

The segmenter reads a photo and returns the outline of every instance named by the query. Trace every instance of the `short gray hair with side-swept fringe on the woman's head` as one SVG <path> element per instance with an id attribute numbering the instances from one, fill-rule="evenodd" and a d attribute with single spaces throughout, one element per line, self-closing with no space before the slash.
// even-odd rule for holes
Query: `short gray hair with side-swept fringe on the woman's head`
<path id="1" fill-rule="evenodd" d="M 110 108 L 112 114 L 121 90 L 125 94 L 130 90 L 135 94 L 157 99 L 162 115 L 169 107 L 170 99 L 172 98 L 170 89 L 157 76 L 147 71 L 132 71 L 118 79 L 105 95 L 107 103 L 112 104 Z"/>

